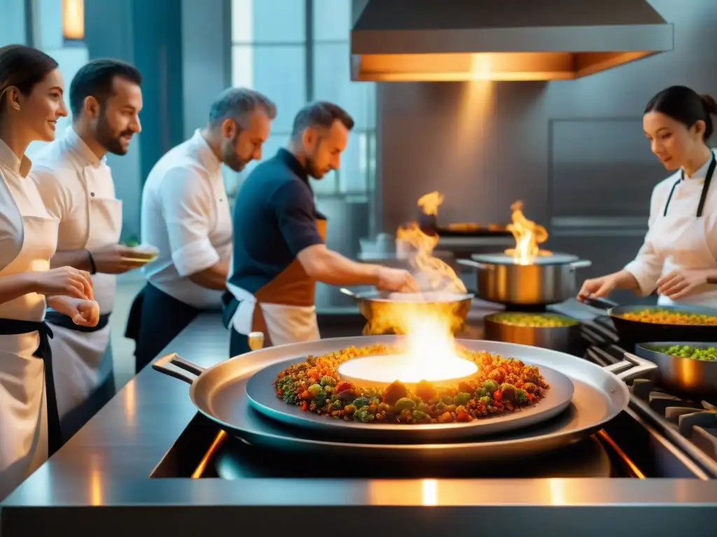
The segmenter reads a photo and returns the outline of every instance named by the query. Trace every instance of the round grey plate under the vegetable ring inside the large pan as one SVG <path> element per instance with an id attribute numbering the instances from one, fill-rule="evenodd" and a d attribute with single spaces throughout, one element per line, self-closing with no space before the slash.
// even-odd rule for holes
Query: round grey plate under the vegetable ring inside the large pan
<path id="1" fill-rule="evenodd" d="M 346 422 L 332 420 L 313 412 L 304 412 L 295 405 L 287 405 L 276 396 L 272 382 L 277 374 L 295 363 L 295 359 L 265 367 L 247 382 L 247 397 L 252 407 L 262 414 L 287 425 L 304 427 L 310 431 L 325 433 L 356 442 L 454 442 L 468 438 L 495 435 L 528 427 L 555 417 L 569 407 L 574 387 L 564 374 L 549 367 L 540 372 L 550 385 L 543 400 L 536 405 L 521 407 L 518 412 L 504 412 L 493 417 L 462 423 L 432 423 L 427 425 L 402 425 Z"/>

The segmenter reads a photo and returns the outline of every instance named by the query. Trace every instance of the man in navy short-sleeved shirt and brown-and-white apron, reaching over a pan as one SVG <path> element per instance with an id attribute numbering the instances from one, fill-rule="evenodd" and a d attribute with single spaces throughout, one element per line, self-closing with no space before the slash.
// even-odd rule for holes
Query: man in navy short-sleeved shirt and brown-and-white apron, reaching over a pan
<path id="1" fill-rule="evenodd" d="M 417 291 L 407 271 L 355 263 L 326 248 L 326 217 L 309 178 L 338 170 L 353 119 L 331 102 L 314 102 L 295 117 L 286 149 L 257 165 L 234 205 L 234 271 L 224 295 L 229 354 L 249 352 L 247 335 L 265 344 L 319 338 L 315 282 Z"/>

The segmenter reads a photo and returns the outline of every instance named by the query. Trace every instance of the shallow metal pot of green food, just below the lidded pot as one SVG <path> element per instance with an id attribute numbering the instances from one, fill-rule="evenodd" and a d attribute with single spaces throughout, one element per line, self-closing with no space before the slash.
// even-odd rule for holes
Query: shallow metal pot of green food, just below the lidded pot
<path id="1" fill-rule="evenodd" d="M 581 342 L 580 323 L 568 326 L 516 326 L 500 322 L 503 312 L 490 314 L 483 319 L 485 339 L 497 342 L 533 345 L 543 349 L 570 352 L 579 347 Z M 556 315 L 556 314 L 542 314 Z"/>

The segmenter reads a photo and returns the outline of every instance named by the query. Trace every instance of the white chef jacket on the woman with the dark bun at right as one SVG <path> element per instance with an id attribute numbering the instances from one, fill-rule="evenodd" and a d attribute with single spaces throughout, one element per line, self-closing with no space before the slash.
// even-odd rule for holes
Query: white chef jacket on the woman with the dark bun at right
<path id="1" fill-rule="evenodd" d="M 713 150 L 713 153 L 716 153 Z M 657 288 L 657 280 L 668 272 L 679 269 L 717 269 L 717 171 L 715 172 L 710 188 L 707 192 L 702 218 L 697 218 L 697 209 L 700 203 L 700 196 L 707 170 L 711 159 L 699 168 L 692 177 L 685 179 L 675 187 L 668 216 L 663 216 L 665 205 L 670 196 L 670 190 L 680 179 L 680 171 L 670 175 L 667 179 L 657 183 L 652 190 L 650 200 L 649 230 L 645 235 L 645 242 L 633 261 L 627 263 L 625 270 L 630 272 L 640 285 L 640 292 L 643 296 L 651 294 Z M 677 230 L 677 226 L 668 224 L 665 226 L 666 218 L 680 218 L 683 222 L 703 233 L 702 246 L 694 248 L 691 253 L 678 251 L 679 244 L 685 243 L 688 239 L 685 236 L 670 238 L 671 230 Z M 699 222 L 698 222 L 699 221 Z M 690 233 L 693 233 L 690 231 Z M 697 289 L 695 294 L 685 297 L 685 302 L 695 304 L 717 306 L 717 294 L 715 286 L 704 286 L 705 289 Z M 670 304 L 671 301 L 665 296 L 660 296 L 660 304 Z"/>

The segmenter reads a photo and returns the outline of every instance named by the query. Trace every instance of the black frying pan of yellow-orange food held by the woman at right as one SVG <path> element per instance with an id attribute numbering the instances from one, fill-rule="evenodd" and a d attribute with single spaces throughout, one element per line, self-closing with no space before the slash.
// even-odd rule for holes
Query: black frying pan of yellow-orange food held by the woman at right
<path id="1" fill-rule="evenodd" d="M 637 304 L 632 306 L 620 306 L 616 302 L 607 299 L 584 299 L 584 303 L 598 309 L 607 310 L 617 330 L 620 341 L 628 343 L 643 343 L 656 341 L 693 341 L 693 342 L 717 342 L 717 326 L 699 324 L 660 324 L 648 323 L 645 321 L 632 321 L 625 319 L 622 315 L 644 309 L 666 309 L 679 311 L 681 313 L 696 313 L 706 315 L 717 315 L 716 309 L 702 306 L 646 306 Z"/>

